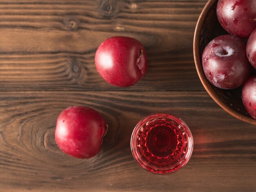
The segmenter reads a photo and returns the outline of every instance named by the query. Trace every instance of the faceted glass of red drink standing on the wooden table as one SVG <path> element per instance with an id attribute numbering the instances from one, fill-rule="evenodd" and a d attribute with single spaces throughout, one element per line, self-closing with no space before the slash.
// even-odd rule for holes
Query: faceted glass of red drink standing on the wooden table
<path id="1" fill-rule="evenodd" d="M 150 114 L 135 126 L 131 150 L 135 161 L 148 172 L 173 173 L 189 161 L 193 137 L 180 118 L 166 113 Z"/>

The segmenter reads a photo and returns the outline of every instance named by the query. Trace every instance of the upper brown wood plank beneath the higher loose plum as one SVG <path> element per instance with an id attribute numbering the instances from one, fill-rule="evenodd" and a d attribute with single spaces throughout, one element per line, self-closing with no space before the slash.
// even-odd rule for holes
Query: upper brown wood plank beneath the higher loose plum
<path id="1" fill-rule="evenodd" d="M 192 44 L 206 2 L 1 1 L 0 91 L 203 90 Z M 149 69 L 137 85 L 113 87 L 97 73 L 94 53 L 110 36 L 146 47 Z"/>

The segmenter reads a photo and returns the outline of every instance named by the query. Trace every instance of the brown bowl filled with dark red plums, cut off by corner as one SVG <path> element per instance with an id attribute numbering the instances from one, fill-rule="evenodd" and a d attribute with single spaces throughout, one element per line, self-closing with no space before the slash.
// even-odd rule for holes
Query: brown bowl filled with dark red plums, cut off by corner
<path id="1" fill-rule="evenodd" d="M 256 125 L 256 0 L 209 0 L 195 28 L 193 52 L 211 98 Z"/>

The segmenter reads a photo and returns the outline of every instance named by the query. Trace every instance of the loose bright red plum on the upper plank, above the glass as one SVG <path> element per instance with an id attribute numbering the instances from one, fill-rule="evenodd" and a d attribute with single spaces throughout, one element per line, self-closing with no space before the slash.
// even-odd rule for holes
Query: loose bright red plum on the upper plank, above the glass
<path id="1" fill-rule="evenodd" d="M 111 37 L 101 43 L 95 54 L 101 77 L 117 87 L 135 85 L 146 74 L 148 59 L 143 45 L 130 37 Z"/>

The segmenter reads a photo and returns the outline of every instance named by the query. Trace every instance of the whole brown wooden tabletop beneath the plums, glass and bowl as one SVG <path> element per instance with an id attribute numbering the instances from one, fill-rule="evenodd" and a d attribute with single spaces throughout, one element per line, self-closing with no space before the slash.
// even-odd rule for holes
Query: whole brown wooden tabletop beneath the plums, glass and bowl
<path id="1" fill-rule="evenodd" d="M 0 191 L 256 191 L 256 127 L 227 114 L 202 87 L 193 33 L 207 0 L 0 0 Z M 110 36 L 140 40 L 146 76 L 108 85 L 94 54 Z M 54 140 L 58 114 L 98 110 L 109 124 L 101 152 L 82 160 Z M 179 172 L 142 170 L 130 151 L 137 122 L 182 118 L 194 152 Z"/>

